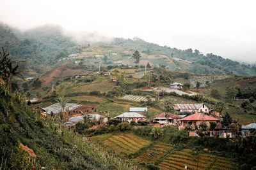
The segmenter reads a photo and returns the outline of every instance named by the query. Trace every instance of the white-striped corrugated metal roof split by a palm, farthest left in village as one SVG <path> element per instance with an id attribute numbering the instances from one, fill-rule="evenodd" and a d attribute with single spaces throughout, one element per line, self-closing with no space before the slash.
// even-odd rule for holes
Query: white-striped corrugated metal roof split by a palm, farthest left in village
<path id="1" fill-rule="evenodd" d="M 76 103 L 67 103 L 66 106 L 65 106 L 65 111 L 68 110 L 74 110 L 78 107 L 80 107 L 82 105 L 80 104 L 76 104 Z M 62 108 L 61 108 L 61 104 L 60 103 L 55 103 L 55 104 L 52 104 L 51 106 L 48 106 L 46 108 L 44 108 L 45 112 L 44 113 L 51 113 L 51 111 L 53 113 L 59 113 L 60 111 L 62 111 Z"/>

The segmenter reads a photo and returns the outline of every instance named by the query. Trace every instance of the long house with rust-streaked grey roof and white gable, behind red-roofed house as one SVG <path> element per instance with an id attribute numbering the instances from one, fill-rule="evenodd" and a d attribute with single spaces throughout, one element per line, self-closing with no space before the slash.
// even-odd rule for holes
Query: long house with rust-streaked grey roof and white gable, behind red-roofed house
<path id="1" fill-rule="evenodd" d="M 189 111 L 193 113 L 209 113 L 209 108 L 204 103 L 200 104 L 174 104 L 174 110 L 184 112 Z"/>

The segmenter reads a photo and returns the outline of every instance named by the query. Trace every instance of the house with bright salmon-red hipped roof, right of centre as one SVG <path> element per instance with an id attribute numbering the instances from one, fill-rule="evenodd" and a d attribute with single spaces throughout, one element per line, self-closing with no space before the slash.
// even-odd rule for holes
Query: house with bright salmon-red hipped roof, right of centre
<path id="1" fill-rule="evenodd" d="M 199 125 L 204 122 L 207 127 L 210 127 L 210 122 L 220 122 L 220 120 L 218 118 L 214 118 L 214 117 L 210 117 L 208 115 L 205 115 L 204 113 L 195 113 L 193 115 L 189 115 L 188 117 L 184 117 L 182 119 L 180 119 L 181 122 L 181 128 L 188 126 L 191 126 L 193 128 L 195 128 L 195 126 L 197 125 L 197 127 L 199 127 Z"/>

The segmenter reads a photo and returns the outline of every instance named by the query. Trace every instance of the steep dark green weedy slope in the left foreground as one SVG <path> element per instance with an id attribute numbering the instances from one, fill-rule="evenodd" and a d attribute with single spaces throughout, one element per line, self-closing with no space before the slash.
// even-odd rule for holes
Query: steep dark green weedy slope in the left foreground
<path id="1" fill-rule="evenodd" d="M 3 84 L 0 100 L 1 169 L 127 169 L 58 119 L 31 111 L 24 96 Z"/>

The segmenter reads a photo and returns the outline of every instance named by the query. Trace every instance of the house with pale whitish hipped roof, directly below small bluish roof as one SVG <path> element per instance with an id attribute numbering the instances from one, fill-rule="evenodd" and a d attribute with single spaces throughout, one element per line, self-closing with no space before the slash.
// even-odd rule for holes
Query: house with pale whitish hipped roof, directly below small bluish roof
<path id="1" fill-rule="evenodd" d="M 117 117 L 114 117 L 113 119 L 117 119 L 117 120 L 125 120 L 127 122 L 131 122 L 132 120 L 134 120 L 135 122 L 140 121 L 145 121 L 146 117 L 144 115 L 141 115 L 140 113 L 136 113 L 136 112 L 125 112 L 122 113 L 121 115 L 118 115 Z"/>

